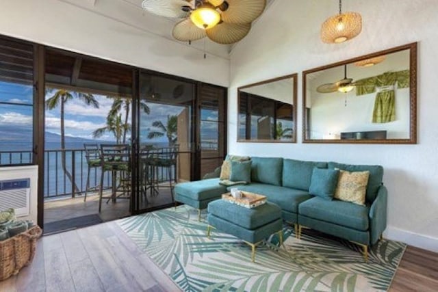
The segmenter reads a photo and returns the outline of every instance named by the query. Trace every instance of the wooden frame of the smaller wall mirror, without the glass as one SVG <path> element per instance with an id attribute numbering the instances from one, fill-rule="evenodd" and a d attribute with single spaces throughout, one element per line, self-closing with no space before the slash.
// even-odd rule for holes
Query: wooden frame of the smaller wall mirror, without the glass
<path id="1" fill-rule="evenodd" d="M 283 79 L 289 79 L 292 78 L 292 80 L 294 81 L 294 86 L 292 88 L 292 116 L 294 118 L 294 137 L 292 138 L 292 140 L 269 140 L 269 139 L 255 139 L 255 140 L 246 140 L 246 139 L 239 139 L 239 123 L 240 123 L 240 118 L 239 118 L 239 114 L 240 114 L 240 92 L 242 92 L 242 90 L 244 90 L 245 88 L 251 88 L 254 86 L 258 86 L 258 85 L 263 85 L 266 83 L 272 83 L 275 81 L 280 81 Z M 268 80 L 264 80 L 264 81 L 259 81 L 256 83 L 251 83 L 248 85 L 244 85 L 244 86 L 240 86 L 239 88 L 237 88 L 237 142 L 239 143 L 296 143 L 296 135 L 298 134 L 296 129 L 296 123 L 297 123 L 297 88 L 298 88 L 298 73 L 294 73 L 291 75 L 285 75 L 285 76 L 281 76 L 281 77 L 276 77 L 273 79 L 268 79 Z"/>

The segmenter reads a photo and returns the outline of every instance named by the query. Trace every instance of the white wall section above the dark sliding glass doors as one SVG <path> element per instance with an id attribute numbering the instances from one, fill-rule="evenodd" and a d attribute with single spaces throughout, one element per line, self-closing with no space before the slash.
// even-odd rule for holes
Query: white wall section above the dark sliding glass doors
<path id="1" fill-rule="evenodd" d="M 141 11 L 127 3 L 122 5 L 120 0 L 96 1 L 95 7 L 90 4 L 94 1 L 72 2 L 77 5 L 60 0 L 1 0 L 0 34 L 198 81 L 229 85 L 229 59 L 211 54 L 204 59 L 203 51 L 160 36 L 161 26 L 169 25 L 165 19 L 156 19 L 157 22 L 152 23 L 157 26 L 151 27 L 149 18 L 156 16 L 142 16 Z M 108 3 L 114 11 L 108 11 Z M 115 16 L 105 16 L 112 14 Z M 169 29 L 171 27 L 172 24 Z M 149 32 L 154 29 L 157 34 Z"/>

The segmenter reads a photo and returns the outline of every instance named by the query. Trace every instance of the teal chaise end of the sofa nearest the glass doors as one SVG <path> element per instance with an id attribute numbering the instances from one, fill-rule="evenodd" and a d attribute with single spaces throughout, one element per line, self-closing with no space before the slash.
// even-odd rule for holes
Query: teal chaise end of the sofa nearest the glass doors
<path id="1" fill-rule="evenodd" d="M 218 200 L 225 193 L 227 187 L 219 185 L 219 178 L 190 181 L 175 185 L 175 202 L 198 209 L 198 220 L 201 220 L 201 209 L 206 209 L 209 202 Z"/>

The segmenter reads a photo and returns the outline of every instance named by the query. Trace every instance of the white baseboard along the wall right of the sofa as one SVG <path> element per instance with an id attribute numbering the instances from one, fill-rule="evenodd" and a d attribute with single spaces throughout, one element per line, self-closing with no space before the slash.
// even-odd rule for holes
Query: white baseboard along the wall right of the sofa
<path id="1" fill-rule="evenodd" d="M 438 238 L 429 237 L 427 235 L 420 235 L 411 231 L 400 228 L 387 226 L 383 237 L 391 240 L 402 241 L 416 248 L 430 250 L 431 252 L 438 252 Z"/>

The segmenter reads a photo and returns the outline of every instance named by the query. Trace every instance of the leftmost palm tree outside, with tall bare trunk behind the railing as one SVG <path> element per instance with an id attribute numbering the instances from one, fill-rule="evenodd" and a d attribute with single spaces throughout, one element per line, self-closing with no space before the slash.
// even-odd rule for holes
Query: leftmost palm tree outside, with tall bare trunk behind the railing
<path id="1" fill-rule="evenodd" d="M 47 93 L 52 92 L 53 90 L 49 90 Z M 83 101 L 86 105 L 91 105 L 95 109 L 99 109 L 99 102 L 96 101 L 96 98 L 90 93 L 82 93 L 82 92 L 69 92 L 65 89 L 56 90 L 53 96 L 46 101 L 47 109 L 55 109 L 60 106 L 60 123 L 61 123 L 61 165 L 62 170 L 66 174 L 68 180 L 75 187 L 75 191 L 79 192 L 79 188 L 77 187 L 75 181 L 73 181 L 73 176 L 66 168 L 66 140 L 65 140 L 65 127 L 64 127 L 64 111 L 65 104 L 68 101 L 71 101 L 73 98 L 79 98 L 79 100 Z"/>

